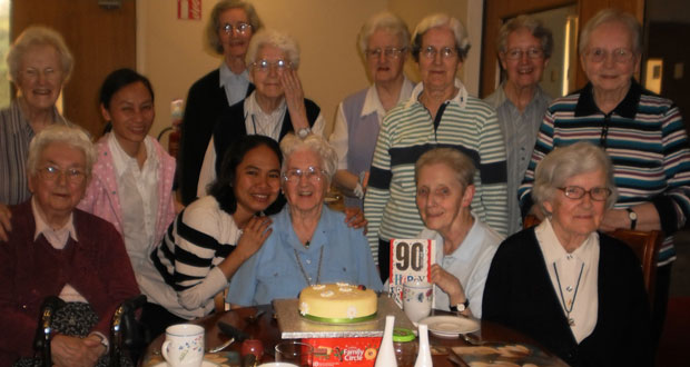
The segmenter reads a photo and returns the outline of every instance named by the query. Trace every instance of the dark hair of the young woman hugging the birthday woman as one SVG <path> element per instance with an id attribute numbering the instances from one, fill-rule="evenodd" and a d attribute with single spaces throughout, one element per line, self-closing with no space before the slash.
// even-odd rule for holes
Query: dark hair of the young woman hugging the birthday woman
<path id="1" fill-rule="evenodd" d="M 235 140 L 230 148 L 225 151 L 223 156 L 223 162 L 220 163 L 220 171 L 218 177 L 211 184 L 208 195 L 211 195 L 218 204 L 220 209 L 228 214 L 234 214 L 237 210 L 237 198 L 235 197 L 235 189 L 233 188 L 236 178 L 237 166 L 241 163 L 245 156 L 249 150 L 266 146 L 268 149 L 278 157 L 278 163 L 283 165 L 283 155 L 280 153 L 280 147 L 278 142 L 272 138 L 260 135 L 248 135 Z"/>

